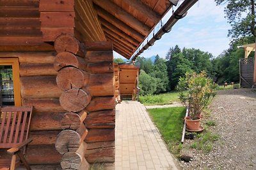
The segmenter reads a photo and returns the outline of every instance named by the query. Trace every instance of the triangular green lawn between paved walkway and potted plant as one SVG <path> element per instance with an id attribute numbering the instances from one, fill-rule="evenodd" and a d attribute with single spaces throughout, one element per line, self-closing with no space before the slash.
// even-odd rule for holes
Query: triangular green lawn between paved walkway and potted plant
<path id="1" fill-rule="evenodd" d="M 185 107 L 156 108 L 148 110 L 170 152 L 178 156 L 182 145 L 180 139 L 186 115 Z"/>

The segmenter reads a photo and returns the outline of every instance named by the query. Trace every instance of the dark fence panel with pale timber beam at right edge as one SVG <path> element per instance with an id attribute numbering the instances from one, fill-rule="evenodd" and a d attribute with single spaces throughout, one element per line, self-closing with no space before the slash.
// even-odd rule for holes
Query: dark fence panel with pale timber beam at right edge
<path id="1" fill-rule="evenodd" d="M 244 59 L 239 60 L 240 86 L 247 88 L 255 88 L 256 58 L 248 58 L 251 52 L 255 52 L 255 43 L 242 45 L 241 47 L 244 48 Z"/>

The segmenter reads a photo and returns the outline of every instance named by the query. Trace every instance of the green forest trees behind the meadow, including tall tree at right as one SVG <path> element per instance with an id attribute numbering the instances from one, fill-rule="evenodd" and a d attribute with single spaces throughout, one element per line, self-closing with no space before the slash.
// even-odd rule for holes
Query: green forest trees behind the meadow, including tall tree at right
<path id="1" fill-rule="evenodd" d="M 232 39 L 229 48 L 218 57 L 213 57 L 211 53 L 200 49 L 180 49 L 176 45 L 170 47 L 166 56 L 156 55 L 154 62 L 142 56 L 138 57 L 136 64 L 140 66 L 141 95 L 175 90 L 180 76 L 193 71 L 196 73 L 206 71 L 207 75 L 219 85 L 225 82 L 239 83 L 239 59 L 244 58 L 244 48 L 239 48 L 239 46 L 255 43 L 255 2 L 253 0 L 215 1 L 217 5 L 227 4 L 225 14 L 232 27 L 227 35 Z M 250 53 L 249 57 L 254 57 L 254 52 Z M 118 58 L 114 62 L 124 61 Z"/>

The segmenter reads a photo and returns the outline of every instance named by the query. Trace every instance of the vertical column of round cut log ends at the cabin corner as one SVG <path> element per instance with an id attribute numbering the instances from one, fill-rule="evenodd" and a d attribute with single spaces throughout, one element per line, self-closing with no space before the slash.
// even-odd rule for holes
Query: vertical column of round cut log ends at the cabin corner
<path id="1" fill-rule="evenodd" d="M 58 71 L 56 83 L 62 90 L 60 105 L 68 111 L 61 120 L 63 131 L 56 138 L 55 148 L 62 155 L 62 169 L 89 169 L 84 157 L 88 129 L 83 123 L 87 116 L 85 108 L 92 99 L 86 89 L 90 78 L 83 59 L 86 50 L 83 43 L 68 34 L 58 36 L 54 48 L 57 52 L 54 61 L 54 69 Z"/>

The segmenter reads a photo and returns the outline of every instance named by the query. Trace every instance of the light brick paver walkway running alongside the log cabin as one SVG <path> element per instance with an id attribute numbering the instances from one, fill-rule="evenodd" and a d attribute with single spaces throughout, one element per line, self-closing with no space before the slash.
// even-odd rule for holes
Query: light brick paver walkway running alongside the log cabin
<path id="1" fill-rule="evenodd" d="M 145 106 L 116 105 L 115 169 L 177 169 Z"/>

